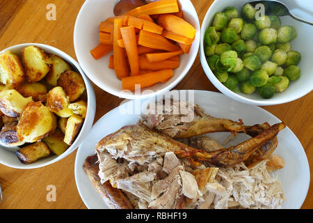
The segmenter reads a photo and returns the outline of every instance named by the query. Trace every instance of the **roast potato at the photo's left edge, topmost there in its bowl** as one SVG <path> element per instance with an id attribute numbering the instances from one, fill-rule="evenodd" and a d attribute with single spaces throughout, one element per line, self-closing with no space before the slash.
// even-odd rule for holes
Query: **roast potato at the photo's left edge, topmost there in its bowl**
<path id="1" fill-rule="evenodd" d="M 24 68 L 19 57 L 10 51 L 0 54 L 0 82 L 13 89 L 25 79 Z"/>

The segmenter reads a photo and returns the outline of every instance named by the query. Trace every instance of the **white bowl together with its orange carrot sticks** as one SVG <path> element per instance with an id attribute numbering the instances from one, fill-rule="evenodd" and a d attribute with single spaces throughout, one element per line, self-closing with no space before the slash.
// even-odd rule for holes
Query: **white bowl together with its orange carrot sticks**
<path id="1" fill-rule="evenodd" d="M 175 87 L 198 54 L 200 23 L 189 0 L 160 0 L 115 17 L 116 1 L 86 1 L 74 48 L 86 75 L 104 91 L 138 99 Z"/>

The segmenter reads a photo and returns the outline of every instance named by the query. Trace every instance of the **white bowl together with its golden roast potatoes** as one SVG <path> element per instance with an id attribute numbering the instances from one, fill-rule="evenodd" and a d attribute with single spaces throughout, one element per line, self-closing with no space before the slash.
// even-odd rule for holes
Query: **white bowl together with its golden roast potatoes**
<path id="1" fill-rule="evenodd" d="M 93 125 L 95 93 L 77 61 L 49 45 L 0 52 L 0 163 L 33 169 L 74 151 Z"/>

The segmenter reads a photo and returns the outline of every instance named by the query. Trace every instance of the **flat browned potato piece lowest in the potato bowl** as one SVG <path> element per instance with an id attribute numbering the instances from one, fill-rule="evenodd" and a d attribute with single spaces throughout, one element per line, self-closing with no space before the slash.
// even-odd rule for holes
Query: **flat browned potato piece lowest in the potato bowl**
<path id="1" fill-rule="evenodd" d="M 35 142 L 16 151 L 15 154 L 24 164 L 31 164 L 36 160 L 50 155 L 48 146 L 43 141 Z"/>

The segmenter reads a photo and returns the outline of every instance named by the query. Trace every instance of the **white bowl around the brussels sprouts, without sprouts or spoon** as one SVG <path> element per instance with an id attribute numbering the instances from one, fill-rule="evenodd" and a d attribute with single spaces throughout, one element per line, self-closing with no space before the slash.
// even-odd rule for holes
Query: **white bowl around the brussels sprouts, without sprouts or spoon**
<path id="1" fill-rule="evenodd" d="M 289 6 L 289 2 L 285 1 L 287 6 Z M 286 102 L 291 102 L 292 100 L 296 100 L 298 98 L 303 97 L 307 93 L 310 93 L 313 89 L 313 72 L 312 72 L 312 54 L 313 54 L 313 47 L 312 47 L 312 40 L 310 36 L 313 36 L 313 27 L 298 22 L 292 19 L 289 16 L 280 17 L 282 20 L 282 25 L 290 24 L 295 26 L 298 31 L 298 37 L 291 42 L 292 49 L 300 52 L 301 54 L 301 61 L 299 63 L 299 67 L 301 70 L 301 76 L 298 80 L 294 82 L 290 82 L 289 87 L 286 91 L 282 93 L 275 93 L 273 98 L 264 99 L 262 98 L 259 93 L 255 92 L 251 95 L 246 95 L 244 93 L 234 93 L 227 89 L 222 83 L 218 81 L 218 79 L 214 76 L 213 72 L 209 68 L 206 60 L 206 56 L 204 54 L 204 32 L 205 30 L 211 26 L 211 22 L 214 18 L 214 15 L 218 12 L 222 12 L 227 6 L 234 6 L 241 12 L 241 8 L 243 5 L 247 3 L 247 0 L 232 0 L 232 1 L 221 1 L 216 0 L 212 3 L 211 7 L 207 11 L 207 14 L 204 17 L 201 26 L 201 38 L 200 38 L 200 60 L 202 64 L 202 68 L 206 73 L 207 77 L 211 81 L 216 88 L 227 95 L 228 97 L 238 100 L 239 102 L 248 103 L 250 105 L 278 105 Z M 293 7 L 296 2 L 292 1 Z M 308 2 L 307 10 L 313 11 L 313 3 L 312 1 Z M 300 7 L 299 7 L 300 8 Z"/>

